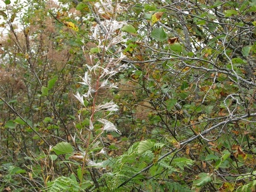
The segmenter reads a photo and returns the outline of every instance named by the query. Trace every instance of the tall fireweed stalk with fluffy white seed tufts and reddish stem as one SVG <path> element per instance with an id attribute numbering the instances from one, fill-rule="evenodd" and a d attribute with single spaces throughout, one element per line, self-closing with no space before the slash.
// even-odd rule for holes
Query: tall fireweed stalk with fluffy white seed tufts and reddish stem
<path id="1" fill-rule="evenodd" d="M 120 11 L 119 5 L 116 4 L 115 7 L 110 5 L 102 3 L 95 6 L 99 12 L 105 11 L 111 15 L 111 20 L 97 20 L 98 24 L 92 29 L 92 38 L 97 42 L 97 47 L 94 47 L 93 50 L 97 54 L 92 54 L 92 50 L 88 50 L 87 44 L 82 41 L 84 44 L 82 50 L 88 63 L 85 65 L 85 73 L 79 84 L 86 91 L 77 91 L 75 97 L 82 106 L 78 114 L 79 122 L 83 124 L 82 116 L 87 116 L 89 111 L 89 123 L 78 132 L 79 139 L 86 143 L 85 151 L 80 152 L 82 156 L 80 154 L 78 158 L 82 160 L 81 174 L 79 175 L 81 184 L 87 166 L 95 168 L 103 165 L 101 162 L 95 162 L 93 157 L 91 159 L 89 153 L 95 148 L 100 148 L 97 155 L 100 153 L 105 155 L 104 133 L 116 132 L 121 135 L 121 132 L 110 120 L 111 115 L 119 110 L 118 105 L 111 100 L 111 91 L 118 87 L 111 81 L 117 73 L 126 68 L 126 66 L 120 64 L 125 56 L 120 49 L 116 50 L 115 48 L 116 44 L 126 41 L 123 39 L 123 32 L 120 30 L 125 23 L 115 20 L 115 14 Z M 98 15 L 95 15 L 95 17 L 97 18 Z M 75 142 L 75 136 L 72 139 Z M 76 158 L 71 156 L 71 159 Z M 94 181 L 94 183 L 97 183 L 97 181 Z"/>

